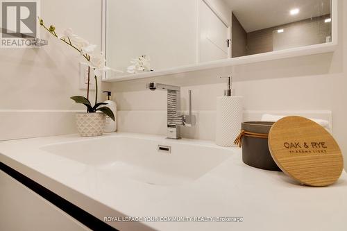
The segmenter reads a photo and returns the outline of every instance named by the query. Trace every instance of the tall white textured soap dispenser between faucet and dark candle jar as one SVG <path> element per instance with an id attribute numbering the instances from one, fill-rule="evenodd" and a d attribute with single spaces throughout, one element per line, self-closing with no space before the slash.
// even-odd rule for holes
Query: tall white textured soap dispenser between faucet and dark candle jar
<path id="1" fill-rule="evenodd" d="M 224 96 L 217 97 L 216 144 L 232 147 L 243 121 L 243 97 L 233 95 L 231 76 L 221 78 L 228 78 L 228 85 Z"/>

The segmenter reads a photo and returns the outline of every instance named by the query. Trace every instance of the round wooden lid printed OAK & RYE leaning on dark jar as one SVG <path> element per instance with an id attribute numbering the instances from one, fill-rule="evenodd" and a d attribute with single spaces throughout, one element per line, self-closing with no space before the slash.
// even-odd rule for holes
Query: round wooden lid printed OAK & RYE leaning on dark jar
<path id="1" fill-rule="evenodd" d="M 303 185 L 332 185 L 344 169 L 335 139 L 322 126 L 303 117 L 285 117 L 269 132 L 269 150 L 280 169 Z"/>

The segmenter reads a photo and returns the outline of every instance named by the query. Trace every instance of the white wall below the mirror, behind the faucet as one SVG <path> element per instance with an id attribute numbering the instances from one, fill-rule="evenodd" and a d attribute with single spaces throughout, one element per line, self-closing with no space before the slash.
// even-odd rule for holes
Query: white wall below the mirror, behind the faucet
<path id="1" fill-rule="evenodd" d="M 214 139 L 216 97 L 225 88 L 219 75 L 233 73 L 245 110 L 331 110 L 334 136 L 347 159 L 347 3 L 339 4 L 339 46 L 335 53 L 113 83 L 120 110 L 119 130 L 166 134 L 166 92 L 145 89 L 146 83 L 154 80 L 183 86 L 185 110 L 187 89 L 193 89 L 193 110 L 198 113 L 199 124 L 184 128 L 183 135 Z"/>

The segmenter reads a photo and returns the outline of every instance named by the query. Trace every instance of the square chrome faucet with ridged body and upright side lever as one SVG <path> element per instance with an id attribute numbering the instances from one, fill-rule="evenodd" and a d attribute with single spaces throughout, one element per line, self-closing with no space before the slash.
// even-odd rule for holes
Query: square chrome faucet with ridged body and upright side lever
<path id="1" fill-rule="evenodd" d="M 180 114 L 180 87 L 161 83 L 147 83 L 151 91 L 155 89 L 167 90 L 167 138 L 180 139 L 180 127 L 192 127 L 196 124 L 196 117 L 192 114 L 192 91 L 189 90 L 189 114 Z"/>

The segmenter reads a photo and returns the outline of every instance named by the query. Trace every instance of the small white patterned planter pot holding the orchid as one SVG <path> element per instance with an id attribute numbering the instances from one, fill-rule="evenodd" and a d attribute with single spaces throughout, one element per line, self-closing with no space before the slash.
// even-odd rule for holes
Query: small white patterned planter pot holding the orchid
<path id="1" fill-rule="evenodd" d="M 105 128 L 105 114 L 76 113 L 76 124 L 81 137 L 96 137 L 103 135 Z"/>

